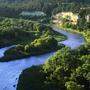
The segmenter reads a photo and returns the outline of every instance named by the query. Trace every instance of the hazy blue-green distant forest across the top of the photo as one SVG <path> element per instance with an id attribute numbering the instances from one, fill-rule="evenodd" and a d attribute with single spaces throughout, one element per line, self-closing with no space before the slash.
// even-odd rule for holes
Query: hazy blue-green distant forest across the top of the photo
<path id="1" fill-rule="evenodd" d="M 62 8 L 63 11 L 76 12 L 80 7 L 90 5 L 89 0 L 82 2 L 83 0 L 1 0 L 0 16 L 20 17 L 22 11 L 43 11 L 49 17 Z"/>

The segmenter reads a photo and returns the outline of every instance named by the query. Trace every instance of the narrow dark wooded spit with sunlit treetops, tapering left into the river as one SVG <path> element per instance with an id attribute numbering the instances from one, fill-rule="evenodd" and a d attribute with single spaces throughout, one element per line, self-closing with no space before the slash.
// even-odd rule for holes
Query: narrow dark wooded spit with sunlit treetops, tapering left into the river
<path id="1" fill-rule="evenodd" d="M 62 47 L 64 47 L 64 45 L 61 44 L 58 46 L 57 40 L 55 40 L 52 36 L 45 36 L 43 38 L 35 39 L 30 44 L 17 45 L 16 47 L 8 49 L 0 61 L 6 62 L 29 57 L 32 55 L 40 55 L 55 51 Z"/>

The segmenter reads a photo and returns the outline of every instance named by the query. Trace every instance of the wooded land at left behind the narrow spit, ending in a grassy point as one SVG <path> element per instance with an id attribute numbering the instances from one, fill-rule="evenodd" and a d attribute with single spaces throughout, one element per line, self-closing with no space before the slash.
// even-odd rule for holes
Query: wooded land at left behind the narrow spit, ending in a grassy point
<path id="1" fill-rule="evenodd" d="M 0 47 L 27 44 L 44 34 L 52 35 L 56 40 L 66 39 L 52 28 L 23 19 L 0 18 Z"/>

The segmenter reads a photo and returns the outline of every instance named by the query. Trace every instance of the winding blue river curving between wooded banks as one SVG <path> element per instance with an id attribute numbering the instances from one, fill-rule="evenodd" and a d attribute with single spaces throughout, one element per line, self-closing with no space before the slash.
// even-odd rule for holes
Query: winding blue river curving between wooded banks
<path id="1" fill-rule="evenodd" d="M 54 31 L 58 33 L 62 33 L 67 36 L 67 40 L 59 42 L 75 49 L 80 45 L 84 44 L 84 38 L 79 34 L 69 33 L 67 31 L 58 30 L 57 28 L 53 28 Z M 10 47 L 5 47 L 0 49 L 0 57 L 4 55 L 4 52 Z M 31 67 L 32 65 L 40 65 L 43 64 L 48 58 L 50 58 L 54 52 L 40 55 L 40 56 L 32 56 L 29 58 L 10 61 L 10 62 L 1 62 L 0 63 L 0 90 L 16 90 L 18 78 L 21 72 Z"/>

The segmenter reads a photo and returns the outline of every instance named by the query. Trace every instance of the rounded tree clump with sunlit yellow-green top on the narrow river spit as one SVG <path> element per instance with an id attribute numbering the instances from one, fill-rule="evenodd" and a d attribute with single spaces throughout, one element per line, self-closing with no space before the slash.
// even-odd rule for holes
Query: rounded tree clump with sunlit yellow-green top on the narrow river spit
<path id="1" fill-rule="evenodd" d="M 28 53 L 42 53 L 42 52 L 47 52 L 50 50 L 56 49 L 58 46 L 57 41 L 51 37 L 43 37 L 40 39 L 34 40 L 30 45 L 25 46 L 25 51 Z"/>

